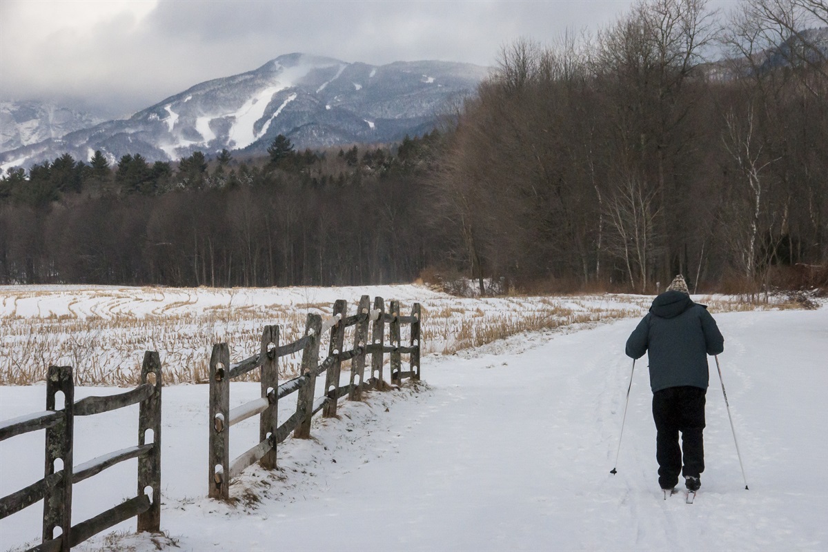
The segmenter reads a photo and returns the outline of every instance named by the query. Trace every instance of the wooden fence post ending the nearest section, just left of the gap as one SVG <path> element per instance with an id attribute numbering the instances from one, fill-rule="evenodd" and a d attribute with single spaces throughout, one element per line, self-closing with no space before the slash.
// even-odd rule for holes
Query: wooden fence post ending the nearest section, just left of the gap
<path id="1" fill-rule="evenodd" d="M 154 378 L 150 377 L 150 374 Z M 154 379 L 154 381 L 153 381 Z M 152 488 L 150 509 L 138 514 L 137 530 L 161 532 L 161 358 L 156 351 L 145 351 L 141 366 L 141 383 L 152 383 L 155 391 L 138 407 L 138 445 L 147 443 L 152 430 L 152 452 L 138 458 L 138 496 Z"/>

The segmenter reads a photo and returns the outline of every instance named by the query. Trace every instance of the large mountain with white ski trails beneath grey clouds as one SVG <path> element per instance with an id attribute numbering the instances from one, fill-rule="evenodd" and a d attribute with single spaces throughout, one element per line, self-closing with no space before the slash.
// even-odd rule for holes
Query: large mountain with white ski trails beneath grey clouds
<path id="1" fill-rule="evenodd" d="M 297 147 L 391 142 L 428 132 L 450 102 L 474 93 L 484 67 L 439 61 L 389 65 L 282 55 L 257 70 L 196 84 L 132 118 L 108 121 L 0 154 L 0 165 L 31 166 L 68 151 L 116 160 L 140 153 L 174 161 L 223 148 L 264 152 L 284 134 Z"/>

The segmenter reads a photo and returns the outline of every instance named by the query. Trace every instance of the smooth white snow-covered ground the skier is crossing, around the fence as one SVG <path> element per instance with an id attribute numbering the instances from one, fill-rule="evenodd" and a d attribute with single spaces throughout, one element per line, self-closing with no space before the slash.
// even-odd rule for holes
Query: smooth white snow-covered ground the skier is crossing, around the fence
<path id="1" fill-rule="evenodd" d="M 421 386 L 316 419 L 313 439 L 282 444 L 279 470 L 250 468 L 231 486 L 233 505 L 205 498 L 206 386 L 167 386 L 166 536 L 99 535 L 75 550 L 828 549 L 828 309 L 714 312 L 750 490 L 710 359 L 707 469 L 692 506 L 658 489 L 646 362 L 609 474 L 632 364 L 623 346 L 640 310 L 430 353 Z M 76 399 L 118 391 L 80 387 Z M 44 396 L 42 385 L 0 387 L 0 420 L 42 410 Z M 231 406 L 257 396 L 258 384 L 231 386 Z M 281 420 L 294 404 L 280 403 Z M 136 418 L 137 406 L 78 419 L 75 464 L 135 444 Z M 256 424 L 233 426 L 231 456 L 255 443 Z M 41 478 L 42 463 L 42 432 L 0 444 L 0 496 Z M 75 485 L 73 521 L 134 496 L 135 473 L 131 460 Z M 39 542 L 40 524 L 40 503 L 0 521 L 0 549 Z"/>

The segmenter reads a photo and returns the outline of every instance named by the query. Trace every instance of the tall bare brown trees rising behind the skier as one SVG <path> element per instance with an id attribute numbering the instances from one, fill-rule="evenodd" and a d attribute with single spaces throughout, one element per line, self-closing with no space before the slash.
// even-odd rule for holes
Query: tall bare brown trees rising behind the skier
<path id="1" fill-rule="evenodd" d="M 738 7 L 637 2 L 596 36 L 503 48 L 432 185 L 481 288 L 755 289 L 826 263 L 826 3 Z"/>

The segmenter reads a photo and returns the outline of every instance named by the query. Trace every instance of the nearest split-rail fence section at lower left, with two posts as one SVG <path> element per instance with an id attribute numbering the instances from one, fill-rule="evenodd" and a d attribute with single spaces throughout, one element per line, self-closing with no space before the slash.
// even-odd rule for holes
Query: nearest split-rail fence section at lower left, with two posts
<path id="1" fill-rule="evenodd" d="M 62 410 L 56 409 L 58 393 L 64 397 Z M 100 414 L 134 404 L 140 404 L 137 446 L 73 466 L 75 416 Z M 44 477 L 0 499 L 0 519 L 43 500 L 42 542 L 30 552 L 68 551 L 133 516 L 138 518 L 138 531 L 161 530 L 161 360 L 158 353 L 144 353 L 141 385 L 132 391 L 89 396 L 77 402 L 72 367 L 50 366 L 46 378 L 46 411 L 0 422 L 0 441 L 36 430 L 46 430 Z M 150 431 L 152 442 L 147 444 Z M 138 458 L 137 497 L 72 526 L 72 485 L 131 458 Z"/>

